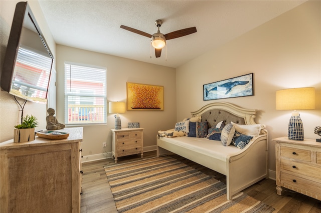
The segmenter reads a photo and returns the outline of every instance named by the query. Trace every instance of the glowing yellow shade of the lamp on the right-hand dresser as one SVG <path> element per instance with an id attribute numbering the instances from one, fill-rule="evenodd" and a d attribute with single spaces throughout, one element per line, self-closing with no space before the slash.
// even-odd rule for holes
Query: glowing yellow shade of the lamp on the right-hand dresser
<path id="1" fill-rule="evenodd" d="M 289 88 L 276 91 L 277 110 L 298 110 L 315 108 L 315 88 Z"/>

